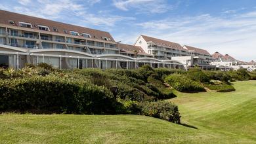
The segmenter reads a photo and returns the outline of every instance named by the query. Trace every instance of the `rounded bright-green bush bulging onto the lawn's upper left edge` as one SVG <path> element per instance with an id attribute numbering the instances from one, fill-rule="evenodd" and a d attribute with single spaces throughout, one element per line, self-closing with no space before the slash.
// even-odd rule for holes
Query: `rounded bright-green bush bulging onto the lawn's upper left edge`
<path id="1" fill-rule="evenodd" d="M 203 86 L 185 75 L 169 75 L 165 78 L 165 82 L 180 92 L 205 92 Z"/>

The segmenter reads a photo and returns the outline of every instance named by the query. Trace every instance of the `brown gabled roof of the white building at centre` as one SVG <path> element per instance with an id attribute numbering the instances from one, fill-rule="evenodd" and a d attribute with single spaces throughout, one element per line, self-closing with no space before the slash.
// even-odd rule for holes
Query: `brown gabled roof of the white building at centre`
<path id="1" fill-rule="evenodd" d="M 179 43 L 173 43 L 173 42 L 165 41 L 165 40 L 162 40 L 162 39 L 156 39 L 154 37 L 148 37 L 146 35 L 141 35 L 141 36 L 143 37 L 143 39 L 146 42 L 152 41 L 156 45 L 166 46 L 166 47 L 175 48 L 175 49 L 179 49 L 179 50 L 186 50 Z"/>

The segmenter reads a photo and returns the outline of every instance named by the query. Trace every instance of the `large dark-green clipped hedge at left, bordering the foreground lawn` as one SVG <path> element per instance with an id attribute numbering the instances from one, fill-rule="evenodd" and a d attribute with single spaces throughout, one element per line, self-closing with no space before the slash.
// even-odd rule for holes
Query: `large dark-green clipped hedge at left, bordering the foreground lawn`
<path id="1" fill-rule="evenodd" d="M 0 82 L 0 94 L 0 111 L 116 113 L 111 92 L 84 80 L 56 76 L 5 80 Z"/>

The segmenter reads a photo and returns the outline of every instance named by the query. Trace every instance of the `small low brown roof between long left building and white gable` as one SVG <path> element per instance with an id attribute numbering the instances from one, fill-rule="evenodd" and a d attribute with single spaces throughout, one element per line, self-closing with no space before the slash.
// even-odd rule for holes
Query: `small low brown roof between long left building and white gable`
<path id="1" fill-rule="evenodd" d="M 134 45 L 127 45 L 127 44 L 119 43 L 119 49 L 121 51 L 127 52 L 129 54 L 134 54 L 135 50 L 136 50 L 136 52 L 139 52 L 138 54 L 150 55 L 150 54 L 147 54 L 146 52 L 144 52 L 144 50 L 140 46 L 134 46 Z"/>

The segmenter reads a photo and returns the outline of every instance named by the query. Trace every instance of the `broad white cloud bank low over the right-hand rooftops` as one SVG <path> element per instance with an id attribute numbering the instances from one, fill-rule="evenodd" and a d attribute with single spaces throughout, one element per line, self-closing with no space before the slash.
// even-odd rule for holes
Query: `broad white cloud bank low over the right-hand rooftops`
<path id="1" fill-rule="evenodd" d="M 137 24 L 147 35 L 230 54 L 241 60 L 256 56 L 256 11 L 229 17 L 209 14 Z"/>

